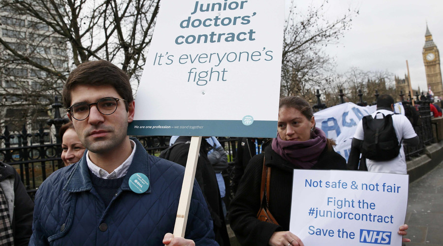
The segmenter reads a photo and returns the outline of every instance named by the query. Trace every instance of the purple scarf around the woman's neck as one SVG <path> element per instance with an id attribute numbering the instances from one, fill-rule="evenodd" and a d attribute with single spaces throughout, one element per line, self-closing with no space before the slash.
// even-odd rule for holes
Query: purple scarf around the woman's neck
<path id="1" fill-rule="evenodd" d="M 311 133 L 311 139 L 307 141 L 285 141 L 277 134 L 277 138 L 272 139 L 271 146 L 287 162 L 298 168 L 310 169 L 326 147 L 326 135 L 319 128 Z"/>

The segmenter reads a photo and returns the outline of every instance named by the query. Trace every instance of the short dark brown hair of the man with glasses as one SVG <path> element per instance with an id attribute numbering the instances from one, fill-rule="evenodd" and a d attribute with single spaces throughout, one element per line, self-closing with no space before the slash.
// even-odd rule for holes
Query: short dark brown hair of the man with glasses
<path id="1" fill-rule="evenodd" d="M 126 110 L 128 103 L 134 100 L 132 88 L 127 74 L 108 61 L 84 62 L 69 74 L 63 87 L 63 104 L 71 106 L 71 90 L 78 85 L 106 86 L 110 85 L 125 99 Z"/>

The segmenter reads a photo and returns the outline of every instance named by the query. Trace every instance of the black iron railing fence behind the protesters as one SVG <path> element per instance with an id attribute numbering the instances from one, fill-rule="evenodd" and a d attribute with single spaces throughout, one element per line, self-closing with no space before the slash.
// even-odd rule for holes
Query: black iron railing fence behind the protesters
<path id="1" fill-rule="evenodd" d="M 362 101 L 362 93 L 359 93 L 360 101 L 357 105 L 366 106 L 367 103 Z M 376 91 L 375 97 L 377 101 L 378 92 Z M 321 95 L 317 91 L 317 104 L 313 106 L 315 111 L 319 111 L 326 108 L 324 103 L 321 103 Z M 340 91 L 339 96 L 341 97 L 340 102 L 344 103 L 344 93 Z M 415 132 L 420 138 L 420 144 L 417 147 L 405 147 L 406 158 L 411 159 L 423 153 L 426 145 L 431 144 L 434 141 L 433 129 L 431 124 L 431 113 L 429 103 L 429 96 L 426 95 L 415 95 L 415 104 L 418 106 L 418 111 L 421 116 L 421 124 L 415 126 Z M 404 95 L 400 93 L 400 98 L 404 104 L 409 104 L 411 99 L 411 94 L 409 94 L 408 100 L 403 100 Z M 374 102 L 375 103 L 375 102 Z M 372 103 L 372 104 L 374 104 Z M 58 98 L 55 98 L 55 103 L 52 105 L 54 109 L 54 119 L 48 120 L 49 125 L 54 125 L 56 132 L 59 131 L 63 123 L 67 122 L 67 119 L 63 119 L 60 114 L 60 108 L 62 105 L 58 102 Z M 28 133 L 26 127 L 24 126 L 22 131 L 19 133 L 10 133 L 8 128 L 5 126 L 3 135 L 0 135 L 0 161 L 10 164 L 16 168 L 19 172 L 20 177 L 25 184 L 28 192 L 33 197 L 38 186 L 55 170 L 63 167 L 63 162 L 61 159 L 61 139 L 59 136 L 56 137 L 56 143 L 47 143 L 48 132 L 40 127 L 36 133 Z M 11 143 L 11 139 L 17 138 L 14 143 Z M 30 138 L 37 138 L 37 144 L 30 144 Z M 137 137 L 146 151 L 149 154 L 158 155 L 159 152 L 169 146 L 168 136 L 151 136 L 151 137 Z M 232 164 L 236 156 L 237 147 L 236 137 L 219 137 L 219 141 L 228 154 L 228 162 L 230 167 L 223 172 L 226 183 L 226 194 L 229 194 L 229 173 L 232 169 Z M 228 202 L 227 202 L 228 204 Z"/>

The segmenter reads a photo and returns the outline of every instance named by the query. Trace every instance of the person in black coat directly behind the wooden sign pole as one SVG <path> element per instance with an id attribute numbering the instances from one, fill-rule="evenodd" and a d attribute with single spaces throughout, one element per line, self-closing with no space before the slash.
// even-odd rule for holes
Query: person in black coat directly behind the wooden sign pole
<path id="1" fill-rule="evenodd" d="M 210 137 L 205 137 L 210 138 Z M 173 147 L 167 159 L 186 166 L 190 148 L 189 136 L 179 136 L 173 139 Z M 219 185 L 214 168 L 209 160 L 208 152 L 213 150 L 208 141 L 201 141 L 200 150 L 195 171 L 195 179 L 200 185 L 201 190 L 208 203 L 208 208 L 214 221 L 215 239 L 220 246 L 229 246 L 229 235 L 226 229 L 226 222 L 223 215 L 222 201 L 220 196 Z"/>

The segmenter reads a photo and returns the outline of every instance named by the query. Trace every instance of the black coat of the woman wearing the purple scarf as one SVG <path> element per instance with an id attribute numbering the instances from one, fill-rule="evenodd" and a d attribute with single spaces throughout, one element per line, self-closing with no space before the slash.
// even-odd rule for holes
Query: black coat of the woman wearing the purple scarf
<path id="1" fill-rule="evenodd" d="M 266 165 L 271 167 L 269 210 L 279 225 L 256 218 L 260 208 L 264 155 Z M 266 246 L 274 232 L 289 230 L 293 169 L 293 165 L 275 153 L 271 146 L 266 148 L 264 154 L 253 156 L 230 204 L 230 226 L 241 245 Z M 334 150 L 325 148 L 312 169 L 346 170 L 346 160 Z"/>

